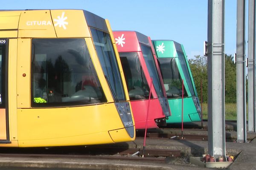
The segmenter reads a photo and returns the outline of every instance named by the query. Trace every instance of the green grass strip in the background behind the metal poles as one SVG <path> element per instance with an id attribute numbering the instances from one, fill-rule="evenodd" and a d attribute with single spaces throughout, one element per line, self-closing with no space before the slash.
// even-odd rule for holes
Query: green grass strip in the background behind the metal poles
<path id="1" fill-rule="evenodd" d="M 207 103 L 203 103 L 203 119 L 208 119 Z M 226 120 L 236 120 L 236 103 L 225 104 Z"/>

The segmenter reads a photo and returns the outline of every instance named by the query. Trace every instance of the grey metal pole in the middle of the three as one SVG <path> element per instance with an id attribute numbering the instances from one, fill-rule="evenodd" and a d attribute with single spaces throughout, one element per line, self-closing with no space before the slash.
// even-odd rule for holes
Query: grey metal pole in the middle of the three
<path id="1" fill-rule="evenodd" d="M 246 91 L 245 91 L 245 0 L 237 0 L 236 28 L 236 107 L 237 142 L 246 142 Z"/>

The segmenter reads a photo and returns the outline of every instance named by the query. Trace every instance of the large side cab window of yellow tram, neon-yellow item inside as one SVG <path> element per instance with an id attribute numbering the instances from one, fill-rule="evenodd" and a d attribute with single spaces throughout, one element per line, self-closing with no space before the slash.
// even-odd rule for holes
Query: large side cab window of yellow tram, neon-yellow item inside
<path id="1" fill-rule="evenodd" d="M 84 39 L 32 39 L 32 106 L 106 102 Z"/>

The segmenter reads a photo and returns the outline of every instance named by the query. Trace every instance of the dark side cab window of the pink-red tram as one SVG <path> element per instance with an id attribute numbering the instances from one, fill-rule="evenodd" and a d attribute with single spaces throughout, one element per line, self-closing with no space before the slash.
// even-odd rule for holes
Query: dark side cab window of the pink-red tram
<path id="1" fill-rule="evenodd" d="M 130 100 L 148 99 L 149 87 L 137 52 L 119 53 Z M 152 98 L 152 95 L 151 95 Z"/>

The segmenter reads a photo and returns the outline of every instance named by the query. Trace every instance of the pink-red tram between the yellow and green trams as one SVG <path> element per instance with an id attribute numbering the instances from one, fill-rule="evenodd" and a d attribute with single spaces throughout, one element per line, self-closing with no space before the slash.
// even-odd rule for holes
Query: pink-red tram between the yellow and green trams
<path id="1" fill-rule="evenodd" d="M 145 129 L 146 122 L 147 128 L 166 125 L 171 112 L 150 38 L 137 31 L 113 31 L 113 34 L 125 74 L 135 128 Z"/>

